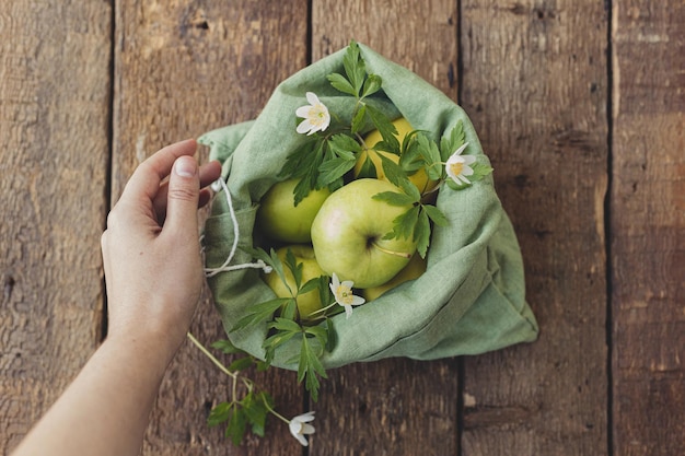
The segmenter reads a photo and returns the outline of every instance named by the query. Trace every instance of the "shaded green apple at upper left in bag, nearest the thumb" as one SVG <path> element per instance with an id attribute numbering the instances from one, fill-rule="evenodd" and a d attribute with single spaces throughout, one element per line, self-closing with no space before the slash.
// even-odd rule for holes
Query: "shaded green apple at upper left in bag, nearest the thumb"
<path id="1" fill-rule="evenodd" d="M 274 184 L 259 201 L 257 226 L 268 237 L 283 243 L 309 243 L 312 222 L 330 190 L 312 190 L 294 206 L 294 188 L 299 179 Z"/>

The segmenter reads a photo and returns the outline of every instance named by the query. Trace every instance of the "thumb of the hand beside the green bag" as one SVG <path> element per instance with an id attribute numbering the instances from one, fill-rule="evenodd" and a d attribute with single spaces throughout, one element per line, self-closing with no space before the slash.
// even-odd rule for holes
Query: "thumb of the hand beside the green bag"
<path id="1" fill-rule="evenodd" d="M 179 156 L 169 179 L 164 226 L 197 235 L 197 202 L 200 194 L 198 166 L 191 156 Z"/>

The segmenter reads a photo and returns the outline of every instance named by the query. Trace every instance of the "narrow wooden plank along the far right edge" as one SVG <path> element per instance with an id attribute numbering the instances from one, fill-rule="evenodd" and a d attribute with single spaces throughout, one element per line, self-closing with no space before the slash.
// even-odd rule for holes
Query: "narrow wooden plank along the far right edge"
<path id="1" fill-rule="evenodd" d="M 613 2 L 617 455 L 685 454 L 685 4 Z"/>

